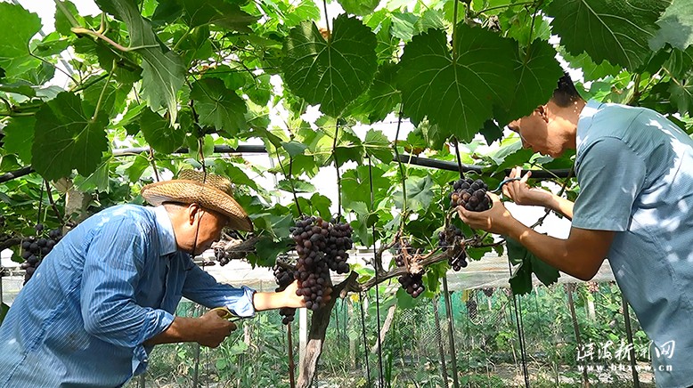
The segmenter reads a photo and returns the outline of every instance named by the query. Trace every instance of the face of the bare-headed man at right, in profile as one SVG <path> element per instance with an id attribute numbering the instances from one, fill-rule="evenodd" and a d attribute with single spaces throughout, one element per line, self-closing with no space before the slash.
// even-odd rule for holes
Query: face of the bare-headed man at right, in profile
<path id="1" fill-rule="evenodd" d="M 551 120 L 548 117 L 546 108 L 540 107 L 534 109 L 529 116 L 511 121 L 508 128 L 520 135 L 524 148 L 551 158 L 558 158 L 565 151 L 565 146 L 563 141 L 551 131 Z"/>

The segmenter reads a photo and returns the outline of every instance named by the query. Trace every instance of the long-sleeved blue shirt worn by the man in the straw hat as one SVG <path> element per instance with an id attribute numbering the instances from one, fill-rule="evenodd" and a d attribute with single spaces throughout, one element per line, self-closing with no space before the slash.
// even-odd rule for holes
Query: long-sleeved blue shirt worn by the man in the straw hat
<path id="1" fill-rule="evenodd" d="M 143 343 L 185 296 L 255 313 L 254 291 L 219 284 L 177 250 L 166 210 L 113 206 L 53 247 L 0 326 L 0 387 L 113 387 L 147 367 Z"/>

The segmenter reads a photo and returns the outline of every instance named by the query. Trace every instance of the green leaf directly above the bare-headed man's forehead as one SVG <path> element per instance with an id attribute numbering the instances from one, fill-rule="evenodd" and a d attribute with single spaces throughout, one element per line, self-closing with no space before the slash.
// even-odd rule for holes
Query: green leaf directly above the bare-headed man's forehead
<path id="1" fill-rule="evenodd" d="M 525 117 L 539 105 L 548 102 L 556 89 L 558 78 L 563 76 L 563 69 L 556 61 L 556 50 L 550 44 L 537 40 L 524 51 L 522 53 L 519 47 L 514 50 L 517 56 L 513 66 L 518 81 L 509 96 L 510 109 L 496 115 L 500 125 Z"/>

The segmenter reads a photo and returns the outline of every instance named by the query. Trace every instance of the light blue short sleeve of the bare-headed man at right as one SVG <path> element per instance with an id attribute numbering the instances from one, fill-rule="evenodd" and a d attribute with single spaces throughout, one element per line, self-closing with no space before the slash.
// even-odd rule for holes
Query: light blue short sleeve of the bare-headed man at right
<path id="1" fill-rule="evenodd" d="M 573 226 L 588 230 L 627 230 L 632 206 L 646 179 L 645 162 L 619 139 L 605 137 L 583 151 L 577 170 L 580 194 Z"/>

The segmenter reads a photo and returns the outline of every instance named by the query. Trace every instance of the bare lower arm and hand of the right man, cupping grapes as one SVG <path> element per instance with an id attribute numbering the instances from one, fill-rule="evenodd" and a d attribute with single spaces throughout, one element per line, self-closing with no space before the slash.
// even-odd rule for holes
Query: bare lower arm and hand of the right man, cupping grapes
<path id="1" fill-rule="evenodd" d="M 459 207 L 462 221 L 471 228 L 518 240 L 543 262 L 577 279 L 589 280 L 599 271 L 614 239 L 614 231 L 573 227 L 567 239 L 553 238 L 527 228 L 508 212 L 497 196 L 491 198 L 493 207 L 485 212 L 469 212 Z"/>

